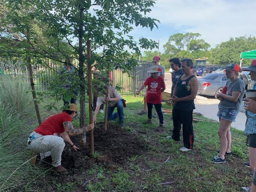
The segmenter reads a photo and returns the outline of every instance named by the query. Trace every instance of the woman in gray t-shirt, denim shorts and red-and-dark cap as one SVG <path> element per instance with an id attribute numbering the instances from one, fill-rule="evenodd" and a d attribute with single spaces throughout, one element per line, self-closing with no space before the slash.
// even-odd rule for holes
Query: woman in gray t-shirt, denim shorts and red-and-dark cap
<path id="1" fill-rule="evenodd" d="M 226 161 L 225 155 L 232 155 L 230 124 L 239 112 L 245 89 L 244 82 L 238 77 L 240 71 L 241 68 L 237 64 L 227 65 L 224 72 L 229 80 L 226 82 L 226 86 L 222 88 L 222 92 L 217 94 L 217 98 L 220 100 L 217 113 L 220 150 L 211 159 L 214 163 L 223 163 Z"/>

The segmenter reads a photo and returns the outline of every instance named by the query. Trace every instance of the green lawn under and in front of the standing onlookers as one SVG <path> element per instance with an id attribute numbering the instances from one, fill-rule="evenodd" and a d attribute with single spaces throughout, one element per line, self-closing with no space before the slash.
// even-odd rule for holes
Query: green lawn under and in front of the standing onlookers
<path id="1" fill-rule="evenodd" d="M 158 118 L 153 119 L 152 125 L 144 125 L 142 121 L 147 119 L 147 115 L 136 114 L 143 107 L 142 97 L 123 97 L 127 104 L 124 108 L 125 127 L 132 133 L 145 131 L 140 140 L 148 145 L 149 150 L 146 157 L 134 156 L 128 159 L 128 168 L 118 169 L 119 177 L 126 184 L 117 182 L 116 174 L 107 176 L 112 178 L 112 190 L 127 191 L 126 185 L 129 185 L 132 191 L 239 191 L 240 186 L 250 184 L 249 169 L 243 166 L 243 161 L 248 159 L 248 148 L 242 131 L 231 127 L 231 150 L 234 155 L 228 157 L 224 164 L 214 164 L 210 158 L 216 155 L 219 148 L 217 122 L 193 123 L 194 148 L 184 153 L 179 151 L 181 141 L 166 138 L 170 134 L 169 129 L 173 128 L 170 114 L 163 115 L 166 130 L 157 133 L 153 130 Z M 162 107 L 171 108 L 164 103 Z M 168 156 L 168 161 L 163 163 Z M 141 172 L 142 169 L 149 171 Z M 116 183 L 119 183 L 118 187 Z"/>

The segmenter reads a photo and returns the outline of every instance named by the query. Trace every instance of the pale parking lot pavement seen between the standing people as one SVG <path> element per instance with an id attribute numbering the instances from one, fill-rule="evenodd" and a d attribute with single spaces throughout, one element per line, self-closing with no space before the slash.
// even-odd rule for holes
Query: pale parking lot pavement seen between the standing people
<path id="1" fill-rule="evenodd" d="M 166 86 L 165 91 L 171 92 L 172 83 L 171 83 L 170 72 L 165 72 L 164 83 Z M 218 103 L 219 103 L 219 100 L 213 97 L 196 96 L 196 99 L 194 100 L 194 104 L 195 104 L 194 112 L 200 112 L 203 114 L 203 116 L 207 118 L 218 120 L 218 117 L 216 115 L 218 111 Z M 242 106 L 241 106 L 241 111 L 244 111 Z M 246 116 L 245 116 L 245 113 L 241 111 L 237 114 L 235 122 L 232 122 L 231 126 L 239 130 L 244 130 Z"/>

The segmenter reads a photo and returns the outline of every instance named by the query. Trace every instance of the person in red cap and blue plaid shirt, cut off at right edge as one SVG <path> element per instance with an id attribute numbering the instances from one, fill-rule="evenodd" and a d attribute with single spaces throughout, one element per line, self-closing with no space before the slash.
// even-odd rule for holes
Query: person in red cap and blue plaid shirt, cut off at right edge
<path id="1" fill-rule="evenodd" d="M 250 71 L 251 80 L 256 80 L 256 59 L 252 60 L 251 64 L 243 70 Z M 248 143 L 246 144 L 249 146 L 249 166 L 253 172 L 253 178 L 250 187 L 241 188 L 243 191 L 256 191 L 256 101 L 245 97 L 244 106 L 247 117 L 244 133 L 248 135 Z"/>

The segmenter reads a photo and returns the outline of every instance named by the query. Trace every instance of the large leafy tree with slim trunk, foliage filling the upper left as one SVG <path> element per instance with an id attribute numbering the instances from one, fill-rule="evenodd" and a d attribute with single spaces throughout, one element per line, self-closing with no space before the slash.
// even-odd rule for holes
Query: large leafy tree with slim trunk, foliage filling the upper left
<path id="1" fill-rule="evenodd" d="M 95 66 L 102 73 L 118 67 L 130 71 L 136 65 L 135 59 L 130 59 L 131 53 L 140 54 L 139 46 L 155 47 L 152 40 L 140 37 L 136 42 L 129 35 L 135 26 L 157 27 L 158 20 L 146 16 L 154 3 L 154 0 L 4 0 L 9 10 L 6 24 L 11 24 L 14 32 L 26 39 L 21 40 L 22 50 L 34 56 L 79 61 L 75 67 L 79 75 L 80 116 L 85 116 L 86 62 L 96 60 Z M 38 30 L 34 30 L 34 24 Z M 91 42 L 91 59 L 86 58 L 87 40 Z"/>

